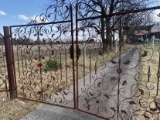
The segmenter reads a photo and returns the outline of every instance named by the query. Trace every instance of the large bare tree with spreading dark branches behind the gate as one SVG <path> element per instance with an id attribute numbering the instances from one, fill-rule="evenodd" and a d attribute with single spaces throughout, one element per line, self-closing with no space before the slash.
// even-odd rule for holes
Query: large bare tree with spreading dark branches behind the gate
<path id="1" fill-rule="evenodd" d="M 129 33 L 127 33 L 129 28 L 131 29 L 134 28 L 134 26 L 141 25 L 142 23 L 146 24 L 148 22 L 146 19 L 144 21 L 143 18 L 144 14 L 149 14 L 149 12 L 141 12 L 138 14 L 130 13 L 123 16 L 112 16 L 112 14 L 146 8 L 151 2 L 152 0 L 54 0 L 49 10 L 54 11 L 55 17 L 53 20 L 65 19 L 68 17 L 66 11 L 69 11 L 70 4 L 73 5 L 73 10 L 75 10 L 75 6 L 78 3 L 79 18 L 101 16 L 98 22 L 86 20 L 79 29 L 95 29 L 95 32 L 101 37 L 103 51 L 106 51 L 108 48 L 112 49 L 112 46 L 115 44 L 113 33 L 116 29 L 119 32 L 122 31 L 124 34 L 129 35 Z M 49 10 L 47 12 L 49 12 Z M 50 15 L 52 14 L 48 15 L 47 20 Z M 133 29 L 130 31 L 133 31 Z M 123 39 L 121 39 L 121 41 L 123 42 Z"/>

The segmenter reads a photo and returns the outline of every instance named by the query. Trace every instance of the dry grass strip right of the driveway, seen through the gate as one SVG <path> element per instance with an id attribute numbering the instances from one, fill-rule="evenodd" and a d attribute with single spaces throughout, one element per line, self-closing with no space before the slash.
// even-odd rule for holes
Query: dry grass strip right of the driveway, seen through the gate
<path id="1" fill-rule="evenodd" d="M 156 109 L 155 98 L 160 98 L 160 92 L 157 95 L 157 84 L 159 84 L 157 83 L 157 72 L 160 47 L 159 44 L 156 44 L 154 49 L 152 48 L 152 44 L 140 45 L 139 47 L 141 48 L 141 61 L 138 85 L 139 89 L 143 90 L 143 92 L 138 98 L 141 104 L 138 105 L 140 109 L 137 111 L 137 114 L 141 115 L 143 119 L 144 116 L 148 116 L 149 119 L 155 120 L 158 119 L 159 116 L 159 110 Z M 160 90 L 160 88 L 158 88 L 158 90 Z M 155 110 L 153 111 L 153 109 Z M 146 112 L 147 110 L 151 113 Z"/>

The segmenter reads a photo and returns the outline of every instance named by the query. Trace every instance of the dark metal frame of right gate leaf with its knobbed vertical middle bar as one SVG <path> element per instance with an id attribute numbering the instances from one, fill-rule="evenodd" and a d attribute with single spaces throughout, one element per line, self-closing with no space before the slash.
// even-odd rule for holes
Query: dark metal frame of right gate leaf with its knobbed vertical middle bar
<path id="1" fill-rule="evenodd" d="M 78 18 L 78 3 L 76 4 L 76 94 L 77 94 L 77 97 L 78 97 L 78 22 L 80 21 L 84 21 L 84 20 L 93 20 L 93 19 L 101 19 L 101 18 L 105 18 L 105 17 L 113 17 L 113 16 L 123 16 L 123 15 L 126 15 L 126 14 L 129 14 L 129 13 L 139 13 L 139 12 L 144 12 L 144 11 L 149 11 L 149 10 L 160 10 L 160 6 L 156 6 L 156 7 L 148 7 L 148 8 L 144 8 L 144 9 L 138 9 L 138 10 L 128 10 L 128 11 L 121 11 L 121 12 L 116 12 L 116 13 L 112 13 L 110 15 L 98 15 L 98 16 L 93 16 L 93 17 L 86 17 L 86 18 Z M 121 23 L 121 18 L 119 20 L 119 23 L 118 23 L 118 26 L 121 28 L 120 31 L 119 31 L 119 44 L 120 44 L 120 47 L 119 47 L 119 51 L 120 53 L 118 54 L 118 57 L 121 58 L 121 44 L 122 44 L 122 23 Z M 120 114 L 120 105 L 119 105 L 119 94 L 120 94 L 120 73 L 122 72 L 122 68 L 120 66 L 120 63 L 121 63 L 121 59 L 119 59 L 118 61 L 118 68 L 117 68 L 117 73 L 118 73 L 118 89 L 117 89 L 117 115 L 116 115 L 116 118 L 118 119 L 119 118 L 119 114 Z M 78 104 L 78 99 L 77 100 L 77 106 L 79 106 Z M 77 107 L 77 110 L 78 111 L 82 111 L 84 113 L 88 113 L 90 115 L 93 115 L 93 116 L 96 116 L 98 118 L 102 118 L 102 119 L 105 119 L 105 120 L 110 120 L 110 118 L 106 118 L 106 117 L 103 117 L 103 116 L 100 116 L 100 115 L 97 115 L 97 114 L 94 114 L 94 113 L 91 113 L 90 111 L 85 111 L 85 110 L 82 110 L 82 109 L 79 109 L 79 107 Z"/>

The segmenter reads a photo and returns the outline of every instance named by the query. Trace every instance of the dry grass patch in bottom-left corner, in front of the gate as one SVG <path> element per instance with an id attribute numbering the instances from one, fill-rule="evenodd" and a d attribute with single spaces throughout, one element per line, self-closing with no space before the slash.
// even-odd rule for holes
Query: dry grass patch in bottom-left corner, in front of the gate
<path id="1" fill-rule="evenodd" d="M 37 105 L 36 102 L 20 99 L 6 100 L 0 103 L 0 118 L 1 120 L 18 120 L 28 112 L 33 111 Z"/>

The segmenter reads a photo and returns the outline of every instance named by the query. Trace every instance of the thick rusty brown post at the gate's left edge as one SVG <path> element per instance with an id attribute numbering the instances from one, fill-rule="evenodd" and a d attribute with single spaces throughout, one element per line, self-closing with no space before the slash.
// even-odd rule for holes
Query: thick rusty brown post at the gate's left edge
<path id="1" fill-rule="evenodd" d="M 14 74 L 13 51 L 10 39 L 10 32 L 9 32 L 10 29 L 9 27 L 4 26 L 3 31 L 4 31 L 4 43 L 5 43 L 10 99 L 15 99 L 17 93 L 16 93 L 15 74 Z"/>

